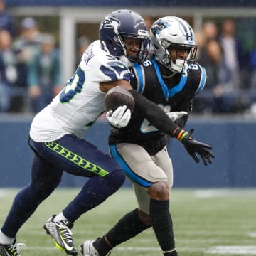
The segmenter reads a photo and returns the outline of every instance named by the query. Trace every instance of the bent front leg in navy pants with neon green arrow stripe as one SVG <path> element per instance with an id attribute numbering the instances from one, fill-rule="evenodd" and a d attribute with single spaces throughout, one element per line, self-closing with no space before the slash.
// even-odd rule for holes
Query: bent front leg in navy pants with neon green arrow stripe
<path id="1" fill-rule="evenodd" d="M 46 147 L 50 161 L 61 158 L 62 161 L 58 163 L 61 169 L 76 176 L 87 177 L 81 191 L 63 210 L 65 218 L 72 223 L 105 201 L 124 183 L 125 174 L 117 161 L 85 139 L 65 135 Z"/>

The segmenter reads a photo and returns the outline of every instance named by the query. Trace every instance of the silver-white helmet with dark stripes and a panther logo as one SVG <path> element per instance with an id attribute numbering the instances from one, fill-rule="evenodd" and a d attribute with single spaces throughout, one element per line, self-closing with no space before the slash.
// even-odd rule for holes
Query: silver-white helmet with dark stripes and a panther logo
<path id="1" fill-rule="evenodd" d="M 156 60 L 174 73 L 188 71 L 195 61 L 197 47 L 191 26 L 182 18 L 166 16 L 155 21 L 149 31 L 149 39 L 154 48 Z M 169 46 L 186 48 L 188 56 L 185 60 L 171 56 Z"/>

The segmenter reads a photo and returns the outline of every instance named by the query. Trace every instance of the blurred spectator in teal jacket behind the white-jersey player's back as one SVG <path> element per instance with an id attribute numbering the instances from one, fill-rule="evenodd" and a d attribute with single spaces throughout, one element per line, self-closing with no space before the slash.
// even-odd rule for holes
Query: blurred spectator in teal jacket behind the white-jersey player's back
<path id="1" fill-rule="evenodd" d="M 41 37 L 41 50 L 28 68 L 28 96 L 31 111 L 39 112 L 63 89 L 60 85 L 60 55 L 50 34 Z"/>

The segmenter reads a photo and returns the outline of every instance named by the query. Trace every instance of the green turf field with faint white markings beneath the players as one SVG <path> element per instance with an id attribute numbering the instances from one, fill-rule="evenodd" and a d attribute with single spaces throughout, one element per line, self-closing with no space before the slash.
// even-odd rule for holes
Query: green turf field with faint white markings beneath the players
<path id="1" fill-rule="evenodd" d="M 17 190 L 0 189 L 0 223 Z M 39 206 L 18 233 L 22 256 L 65 255 L 43 231 L 43 223 L 62 210 L 78 190 L 58 189 Z M 136 207 L 132 188 L 122 188 L 105 203 L 82 215 L 73 228 L 78 246 L 102 235 L 124 213 Z M 171 213 L 179 256 L 256 255 L 256 190 L 173 189 Z M 81 255 L 81 254 L 78 254 Z M 112 256 L 162 255 L 151 229 L 119 245 Z"/>

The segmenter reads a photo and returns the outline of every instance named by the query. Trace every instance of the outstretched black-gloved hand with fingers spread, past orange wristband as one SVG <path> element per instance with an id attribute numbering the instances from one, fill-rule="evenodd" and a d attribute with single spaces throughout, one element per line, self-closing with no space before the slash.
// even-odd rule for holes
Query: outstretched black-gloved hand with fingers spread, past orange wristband
<path id="1" fill-rule="evenodd" d="M 191 137 L 192 133 L 193 129 L 191 129 L 186 134 L 186 136 L 181 139 L 181 143 L 183 144 L 183 146 L 185 146 L 186 151 L 188 151 L 188 154 L 193 157 L 196 163 L 199 162 L 198 156 L 201 156 L 201 159 L 203 160 L 203 164 L 205 166 L 211 164 L 212 158 L 215 157 L 213 152 L 210 150 L 212 149 L 212 147 L 208 144 L 204 144 L 202 142 L 196 141 L 196 139 L 193 139 L 193 137 Z"/>

